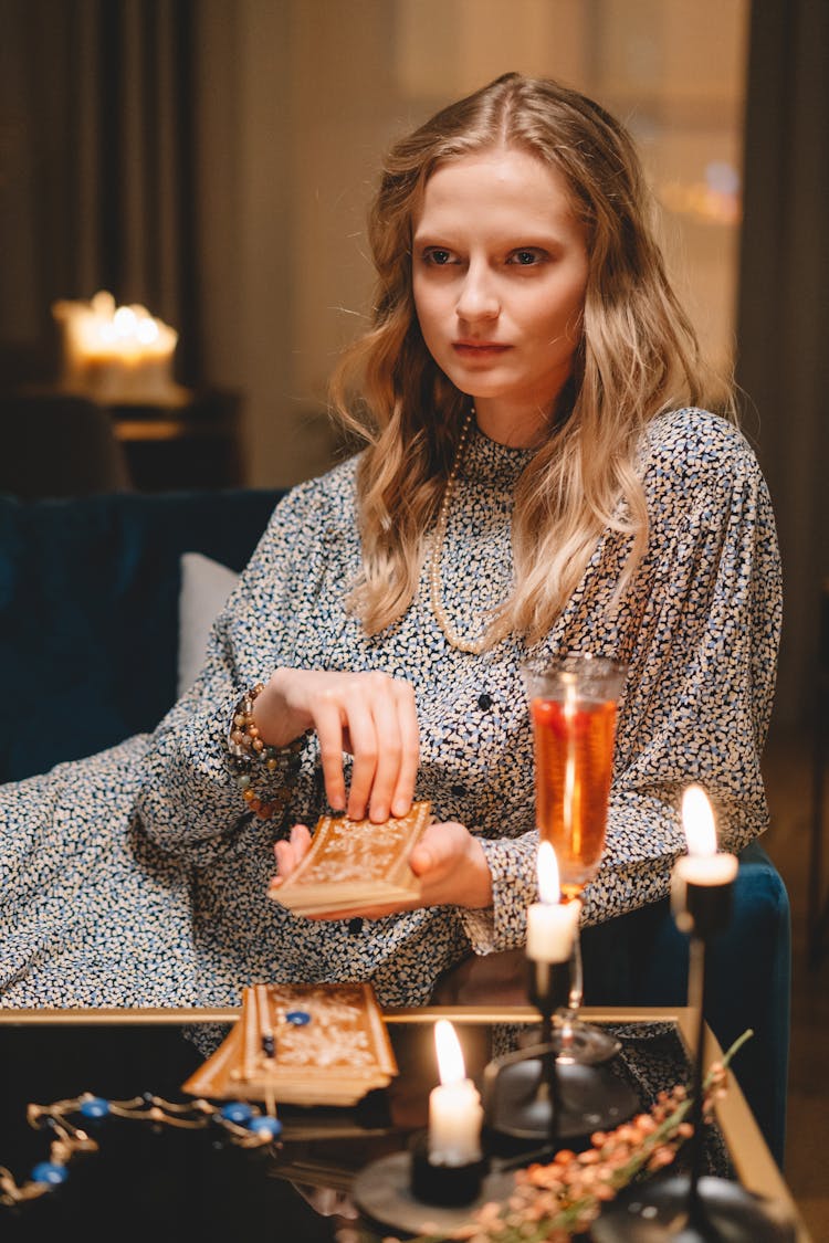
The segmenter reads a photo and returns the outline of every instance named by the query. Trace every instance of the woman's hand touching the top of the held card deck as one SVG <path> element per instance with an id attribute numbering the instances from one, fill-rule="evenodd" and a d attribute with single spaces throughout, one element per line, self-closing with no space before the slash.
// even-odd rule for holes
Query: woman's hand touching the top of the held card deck
<path id="1" fill-rule="evenodd" d="M 380 823 L 411 807 L 420 736 L 410 682 L 377 671 L 277 669 L 256 699 L 254 720 L 272 747 L 316 731 L 326 797 L 334 810 Z M 348 797 L 343 752 L 354 761 Z"/>

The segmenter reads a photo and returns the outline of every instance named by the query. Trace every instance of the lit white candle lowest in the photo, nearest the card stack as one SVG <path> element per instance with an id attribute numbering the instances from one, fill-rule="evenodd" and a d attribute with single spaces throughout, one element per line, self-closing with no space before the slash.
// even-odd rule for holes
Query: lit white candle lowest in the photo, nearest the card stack
<path id="1" fill-rule="evenodd" d="M 440 1085 L 429 1094 L 429 1161 L 471 1165 L 481 1160 L 483 1109 L 475 1084 L 466 1078 L 455 1028 L 445 1018 L 435 1023 L 435 1047 Z"/>

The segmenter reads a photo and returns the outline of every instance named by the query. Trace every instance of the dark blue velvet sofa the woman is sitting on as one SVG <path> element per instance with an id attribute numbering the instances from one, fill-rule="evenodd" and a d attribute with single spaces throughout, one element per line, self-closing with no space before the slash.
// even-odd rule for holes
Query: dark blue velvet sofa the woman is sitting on
<path id="1" fill-rule="evenodd" d="M 118 493 L 19 502 L 0 497 L 0 781 L 44 772 L 152 728 L 174 702 L 180 557 L 236 571 L 280 493 Z M 449 1001 L 523 986 L 520 956 L 462 966 Z M 667 902 L 588 929 L 585 1001 L 680 1006 L 687 940 Z M 726 1045 L 752 1027 L 737 1074 L 777 1156 L 783 1152 L 789 1035 L 789 907 L 759 845 L 741 860 L 736 911 L 711 958 L 707 1018 Z"/>

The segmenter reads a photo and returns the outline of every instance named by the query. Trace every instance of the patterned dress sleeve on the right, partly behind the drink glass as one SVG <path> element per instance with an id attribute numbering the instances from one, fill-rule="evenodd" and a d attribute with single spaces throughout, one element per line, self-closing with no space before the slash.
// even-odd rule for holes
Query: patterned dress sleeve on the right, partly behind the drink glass
<path id="1" fill-rule="evenodd" d="M 697 782 L 720 845 L 738 851 L 768 824 L 759 768 L 774 689 L 781 566 L 757 460 L 740 431 L 703 410 L 656 420 L 641 454 L 649 544 L 614 597 L 628 543 L 605 532 L 546 645 L 551 660 L 624 660 L 607 848 L 584 892 L 595 924 L 665 896 L 685 850 L 680 803 Z M 462 912 L 477 953 L 521 943 L 536 889 L 537 834 L 483 843 L 488 912 Z"/>

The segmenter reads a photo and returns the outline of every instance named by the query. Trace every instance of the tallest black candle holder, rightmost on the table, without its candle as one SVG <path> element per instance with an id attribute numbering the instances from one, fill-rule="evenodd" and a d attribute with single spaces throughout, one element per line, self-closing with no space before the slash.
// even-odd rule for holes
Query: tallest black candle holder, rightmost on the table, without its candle
<path id="1" fill-rule="evenodd" d="M 728 926 L 733 885 L 674 885 L 677 927 L 691 936 L 689 992 L 697 998 L 694 1050 L 690 1172 L 662 1175 L 626 1188 L 592 1226 L 595 1243 L 794 1243 L 794 1223 L 782 1204 L 728 1178 L 703 1177 L 706 952 Z"/>

